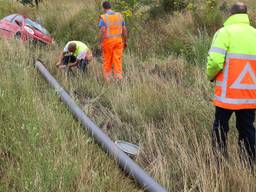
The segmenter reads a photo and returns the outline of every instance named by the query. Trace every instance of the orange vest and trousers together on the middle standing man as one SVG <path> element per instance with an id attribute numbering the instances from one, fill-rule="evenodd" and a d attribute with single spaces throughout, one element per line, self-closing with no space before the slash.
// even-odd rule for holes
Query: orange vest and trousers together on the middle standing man
<path id="1" fill-rule="evenodd" d="M 104 14 L 101 16 L 105 23 L 103 40 L 103 75 L 109 80 L 114 69 L 114 78 L 122 79 L 122 57 L 123 57 L 123 16 L 120 13 Z"/>

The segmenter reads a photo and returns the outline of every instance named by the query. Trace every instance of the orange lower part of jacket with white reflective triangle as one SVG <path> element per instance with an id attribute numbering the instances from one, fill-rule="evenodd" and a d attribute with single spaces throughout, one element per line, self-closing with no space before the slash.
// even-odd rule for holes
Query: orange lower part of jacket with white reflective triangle
<path id="1" fill-rule="evenodd" d="M 214 104 L 225 109 L 256 109 L 256 56 L 227 54 L 216 78 Z"/>

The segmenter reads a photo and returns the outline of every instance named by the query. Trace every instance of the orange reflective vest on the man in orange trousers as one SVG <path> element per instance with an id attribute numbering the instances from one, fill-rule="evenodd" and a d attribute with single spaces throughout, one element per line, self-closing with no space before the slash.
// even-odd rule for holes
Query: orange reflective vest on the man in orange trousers
<path id="1" fill-rule="evenodd" d="M 123 23 L 123 16 L 121 13 L 114 13 L 114 14 L 104 14 L 101 15 L 105 25 L 106 31 L 104 34 L 104 38 L 121 38 L 122 37 L 122 23 Z"/>

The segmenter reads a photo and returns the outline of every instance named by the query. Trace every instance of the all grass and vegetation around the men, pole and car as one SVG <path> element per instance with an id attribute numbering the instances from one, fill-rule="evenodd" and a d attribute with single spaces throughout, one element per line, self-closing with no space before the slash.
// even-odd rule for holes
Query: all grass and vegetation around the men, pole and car
<path id="1" fill-rule="evenodd" d="M 45 0 L 39 9 L 2 2 L 1 16 L 26 13 L 40 20 L 57 42 L 34 52 L 26 45 L 18 44 L 17 49 L 16 43 L 1 41 L 0 58 L 6 61 L 2 65 L 11 66 L 2 67 L 0 75 L 4 82 L 0 91 L 9 90 L 0 92 L 1 122 L 5 122 L 1 123 L 0 148 L 3 191 L 15 191 L 16 183 L 28 183 L 23 191 L 38 186 L 41 191 L 76 191 L 88 183 L 90 188 L 85 191 L 137 190 L 116 169 L 112 171 L 113 163 L 84 136 L 54 91 L 33 69 L 34 57 L 45 62 L 113 140 L 139 144 L 141 150 L 135 160 L 169 191 L 256 191 L 255 176 L 239 160 L 233 119 L 230 159 L 219 170 L 211 151 L 213 85 L 205 77 L 206 57 L 212 35 L 234 1 L 117 1 L 115 8 L 126 15 L 130 38 L 124 56 L 125 79 L 111 83 L 102 78 L 99 58 L 92 61 L 85 76 L 67 77 L 55 67 L 68 40 L 84 41 L 96 52 L 101 1 Z M 245 2 L 255 24 L 255 3 Z M 16 57 L 11 51 L 14 47 Z M 96 176 L 87 169 L 97 169 Z M 107 180 L 105 174 L 109 174 Z M 93 176 L 95 180 L 91 180 Z M 119 183 L 119 178 L 125 184 Z"/>

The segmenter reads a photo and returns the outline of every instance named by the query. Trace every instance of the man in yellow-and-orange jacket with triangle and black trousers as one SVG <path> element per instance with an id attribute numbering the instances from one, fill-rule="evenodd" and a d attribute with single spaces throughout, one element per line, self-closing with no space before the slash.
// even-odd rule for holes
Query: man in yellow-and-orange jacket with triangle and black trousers
<path id="1" fill-rule="evenodd" d="M 239 147 L 252 164 L 255 162 L 256 29 L 250 26 L 244 3 L 234 4 L 230 13 L 224 27 L 215 33 L 208 56 L 207 76 L 215 81 L 213 148 L 227 157 L 228 122 L 234 112 Z"/>

